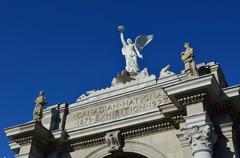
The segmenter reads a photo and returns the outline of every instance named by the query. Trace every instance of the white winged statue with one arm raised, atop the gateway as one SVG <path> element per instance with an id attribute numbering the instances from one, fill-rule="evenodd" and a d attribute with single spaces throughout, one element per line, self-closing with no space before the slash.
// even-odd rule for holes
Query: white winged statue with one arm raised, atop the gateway
<path id="1" fill-rule="evenodd" d="M 120 38 L 123 44 L 122 54 L 125 56 L 126 67 L 125 70 L 129 73 L 138 73 L 140 71 L 137 63 L 137 58 L 143 58 L 141 52 L 143 48 L 153 40 L 153 35 L 139 35 L 135 39 L 135 43 L 130 38 L 124 39 L 124 26 L 118 26 L 120 31 Z"/>

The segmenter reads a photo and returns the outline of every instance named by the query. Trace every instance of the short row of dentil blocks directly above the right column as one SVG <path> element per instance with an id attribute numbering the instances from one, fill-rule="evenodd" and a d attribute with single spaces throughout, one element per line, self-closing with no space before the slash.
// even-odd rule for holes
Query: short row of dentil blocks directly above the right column
<path id="1" fill-rule="evenodd" d="M 186 105 L 190 105 L 190 104 L 203 102 L 206 99 L 206 97 L 207 97 L 207 93 L 203 92 L 203 93 L 190 95 L 187 97 L 182 97 L 182 98 L 178 99 L 178 102 L 181 105 L 186 106 Z"/>

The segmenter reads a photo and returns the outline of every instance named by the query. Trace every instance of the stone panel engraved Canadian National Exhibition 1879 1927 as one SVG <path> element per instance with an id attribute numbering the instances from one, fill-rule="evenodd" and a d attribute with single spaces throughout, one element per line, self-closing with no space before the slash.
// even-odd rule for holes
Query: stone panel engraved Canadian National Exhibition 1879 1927
<path id="1" fill-rule="evenodd" d="M 171 103 L 162 89 L 144 91 L 140 94 L 111 99 L 109 102 L 83 107 L 70 115 L 74 117 L 74 126 L 114 121 L 125 117 L 149 112 L 160 105 Z M 71 116 L 70 116 L 71 117 Z"/>

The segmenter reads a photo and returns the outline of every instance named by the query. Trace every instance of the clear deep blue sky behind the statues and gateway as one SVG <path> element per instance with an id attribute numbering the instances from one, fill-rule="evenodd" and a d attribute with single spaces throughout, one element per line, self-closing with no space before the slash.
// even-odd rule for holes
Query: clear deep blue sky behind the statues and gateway
<path id="1" fill-rule="evenodd" d="M 152 74 L 166 64 L 179 73 L 189 41 L 197 63 L 215 60 L 240 83 L 239 0 L 1 0 L 0 157 L 13 157 L 2 129 L 31 120 L 39 90 L 71 103 L 110 85 L 124 69 L 119 24 L 131 38 L 155 35 L 140 60 Z"/>

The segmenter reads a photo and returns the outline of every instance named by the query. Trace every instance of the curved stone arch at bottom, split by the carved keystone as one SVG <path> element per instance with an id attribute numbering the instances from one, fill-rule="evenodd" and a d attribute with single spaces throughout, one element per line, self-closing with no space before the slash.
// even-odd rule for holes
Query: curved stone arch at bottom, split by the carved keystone
<path id="1" fill-rule="evenodd" d="M 129 155 L 133 156 L 133 157 L 126 157 L 126 158 L 167 158 L 160 151 L 155 149 L 153 146 L 150 146 L 141 142 L 135 142 L 135 141 L 125 141 L 125 146 L 123 148 L 122 153 L 128 154 L 125 156 L 129 156 Z M 103 146 L 91 152 L 85 158 L 115 158 L 115 157 L 113 157 L 113 155 L 108 153 L 107 146 Z"/>

